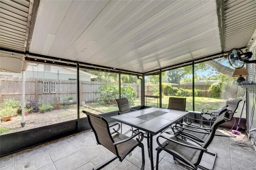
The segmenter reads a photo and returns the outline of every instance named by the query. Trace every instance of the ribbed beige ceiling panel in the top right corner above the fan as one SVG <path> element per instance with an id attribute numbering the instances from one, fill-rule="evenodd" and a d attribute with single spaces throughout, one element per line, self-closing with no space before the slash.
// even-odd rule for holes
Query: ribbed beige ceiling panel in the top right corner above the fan
<path id="1" fill-rule="evenodd" d="M 225 1 L 225 51 L 246 47 L 256 29 L 256 0 Z"/>

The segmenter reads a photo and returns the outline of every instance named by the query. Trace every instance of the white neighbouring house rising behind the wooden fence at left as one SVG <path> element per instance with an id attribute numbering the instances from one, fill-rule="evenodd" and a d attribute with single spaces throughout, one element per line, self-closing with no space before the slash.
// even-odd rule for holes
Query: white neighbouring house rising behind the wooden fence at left
<path id="1" fill-rule="evenodd" d="M 20 76 L 21 74 L 1 72 L 1 75 Z M 91 81 L 91 79 L 98 77 L 97 75 L 93 75 L 81 70 L 79 71 L 79 75 L 80 81 Z M 27 78 L 76 80 L 76 69 L 55 65 L 35 65 L 34 63 L 29 63 L 25 71 L 25 79 Z"/>

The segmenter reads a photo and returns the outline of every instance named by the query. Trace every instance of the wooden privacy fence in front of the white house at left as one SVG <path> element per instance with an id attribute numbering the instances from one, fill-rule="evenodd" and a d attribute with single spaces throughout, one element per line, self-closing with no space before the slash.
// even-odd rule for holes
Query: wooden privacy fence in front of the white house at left
<path id="1" fill-rule="evenodd" d="M 44 82 L 55 82 L 55 93 L 43 93 Z M 96 90 L 100 85 L 116 84 L 99 81 L 80 81 L 80 100 L 86 103 L 93 103 L 100 94 Z M 141 97 L 140 84 L 121 83 L 122 86 L 133 87 L 137 97 Z M 1 76 L 0 77 L 0 103 L 4 99 L 15 99 L 21 101 L 21 77 Z M 44 101 L 46 104 L 53 104 L 54 97 L 60 97 L 60 103 L 63 103 L 64 97 L 73 97 L 77 102 L 77 83 L 76 80 L 58 80 L 58 79 L 33 79 L 25 81 L 25 99 L 36 99 Z"/>

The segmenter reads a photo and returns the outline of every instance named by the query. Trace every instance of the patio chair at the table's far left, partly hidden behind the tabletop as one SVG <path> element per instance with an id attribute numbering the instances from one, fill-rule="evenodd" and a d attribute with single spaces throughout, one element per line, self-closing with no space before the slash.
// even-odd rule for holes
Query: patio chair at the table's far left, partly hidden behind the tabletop
<path id="1" fill-rule="evenodd" d="M 127 98 L 116 99 L 116 103 L 117 103 L 118 109 L 119 109 L 118 115 L 130 113 L 131 110 L 136 111 L 136 110 L 130 108 Z M 135 133 L 135 131 L 138 131 L 138 129 L 133 130 L 133 128 L 131 127 L 131 129 L 128 130 L 127 132 L 125 132 L 124 134 L 130 132 L 131 130 L 132 130 L 132 134 Z M 122 133 L 122 123 L 121 123 L 121 133 Z"/>

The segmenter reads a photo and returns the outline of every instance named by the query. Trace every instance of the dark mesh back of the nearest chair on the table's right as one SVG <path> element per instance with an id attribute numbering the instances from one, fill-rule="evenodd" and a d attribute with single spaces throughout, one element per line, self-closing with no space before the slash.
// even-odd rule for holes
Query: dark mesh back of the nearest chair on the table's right
<path id="1" fill-rule="evenodd" d="M 202 146 L 203 148 L 207 148 L 209 146 L 209 144 L 212 142 L 217 128 L 219 127 L 220 124 L 225 122 L 224 117 L 225 117 L 226 114 L 229 114 L 228 112 L 229 112 L 228 109 L 224 109 L 224 110 L 222 110 L 222 113 L 219 114 L 218 118 L 216 119 L 216 121 L 212 125 L 212 131 L 207 136 L 207 138 L 206 138 L 206 140 L 205 140 L 205 142 Z"/>

